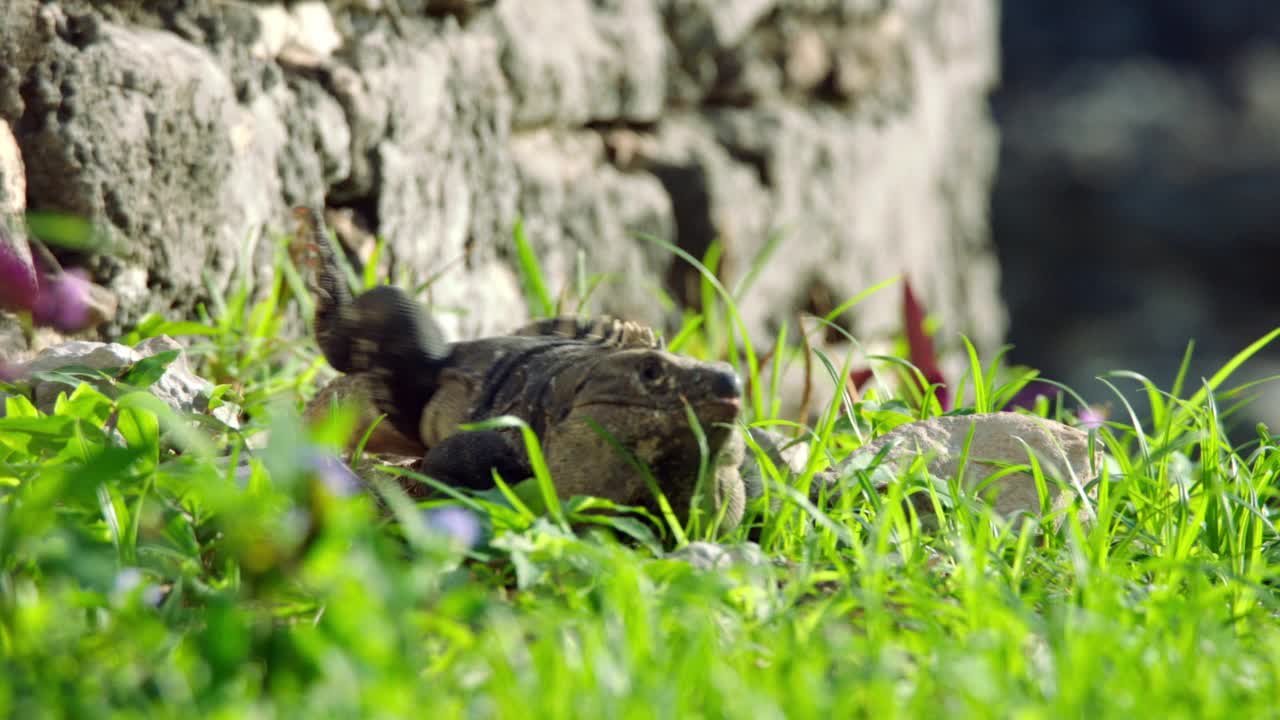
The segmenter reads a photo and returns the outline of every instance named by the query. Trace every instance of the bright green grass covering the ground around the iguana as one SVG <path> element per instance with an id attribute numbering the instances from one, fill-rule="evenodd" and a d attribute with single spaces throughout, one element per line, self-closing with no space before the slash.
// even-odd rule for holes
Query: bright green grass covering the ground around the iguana
<path id="1" fill-rule="evenodd" d="M 520 245 L 529 297 L 559 307 Z M 424 503 L 390 474 L 352 492 L 317 470 L 351 419 L 298 424 L 330 372 L 310 341 L 284 338 L 305 300 L 280 260 L 261 300 L 244 279 L 200 323 L 152 318 L 128 338 L 189 336 L 196 368 L 243 406 L 239 430 L 155 402 L 145 386 L 165 359 L 79 386 L 47 415 L 8 388 L 0 716 L 1276 715 L 1280 454 L 1267 428 L 1234 447 L 1225 434 L 1253 389 L 1228 387 L 1230 372 L 1272 336 L 1194 388 L 1106 378 L 1125 411 L 1096 433 L 1111 456 L 1096 521 L 1002 520 L 945 502 L 942 478 L 945 518 L 928 530 L 897 502 L 902 486 L 818 506 L 805 491 L 936 404 L 873 383 L 812 428 L 778 416 L 777 363 L 804 354 L 744 337 L 745 288 L 708 273 L 703 310 L 675 334 L 682 351 L 736 357 L 753 388 L 744 423 L 817 451 L 799 475 L 768 465 L 767 498 L 719 538 L 758 538 L 776 562 L 704 573 L 663 555 L 712 537 L 713 519 L 671 528 L 558 502 L 544 469 Z M 573 306 L 598 287 L 575 284 Z M 1030 377 L 963 351 L 960 411 L 998 407 Z M 810 359 L 831 375 L 851 363 Z M 901 363 L 876 368 L 888 378 Z M 1128 410 L 1135 392 L 1149 416 Z M 483 516 L 480 546 L 424 523 L 447 503 Z"/>

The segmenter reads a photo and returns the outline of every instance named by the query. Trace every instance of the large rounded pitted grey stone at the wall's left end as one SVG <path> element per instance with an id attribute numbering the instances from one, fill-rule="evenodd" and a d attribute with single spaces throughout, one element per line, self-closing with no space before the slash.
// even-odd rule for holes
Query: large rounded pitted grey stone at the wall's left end
<path id="1" fill-rule="evenodd" d="M 155 29 L 100 22 L 83 46 L 55 40 L 27 82 L 37 91 L 17 129 L 32 209 L 97 222 L 114 250 L 97 269 L 141 266 L 161 290 L 124 319 L 189 309 L 205 270 L 225 286 L 246 231 L 279 205 L 260 170 L 283 127 L 237 106 L 209 53 Z"/>

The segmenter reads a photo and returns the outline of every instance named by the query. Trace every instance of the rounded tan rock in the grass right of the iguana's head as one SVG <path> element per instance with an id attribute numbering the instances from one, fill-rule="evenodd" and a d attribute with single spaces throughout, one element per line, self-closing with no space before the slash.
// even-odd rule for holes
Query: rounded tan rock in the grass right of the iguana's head
<path id="1" fill-rule="evenodd" d="M 965 464 L 964 487 L 991 502 L 997 512 L 1009 516 L 1015 512 L 1038 515 L 1039 496 L 1030 473 L 1018 471 L 1002 475 L 984 486 L 984 480 L 1007 465 L 1027 465 L 1028 451 L 1034 454 L 1044 473 L 1051 511 L 1061 510 L 1085 493 L 1101 468 L 1101 450 L 1089 456 L 1088 433 L 1055 420 L 1019 413 L 991 413 L 979 415 L 952 415 L 899 425 L 860 447 L 842 465 L 841 475 L 849 468 L 868 466 L 874 456 L 888 447 L 877 471 L 876 484 L 882 489 L 887 483 L 902 477 L 908 465 L 925 457 L 929 474 L 941 483 L 956 478 L 965 459 L 964 447 L 973 432 Z M 1025 443 L 1025 445 L 1024 445 Z M 940 486 L 946 489 L 945 484 Z M 918 512 L 932 515 L 927 497 L 913 496 Z M 1088 502 L 1082 516 L 1092 518 Z"/>

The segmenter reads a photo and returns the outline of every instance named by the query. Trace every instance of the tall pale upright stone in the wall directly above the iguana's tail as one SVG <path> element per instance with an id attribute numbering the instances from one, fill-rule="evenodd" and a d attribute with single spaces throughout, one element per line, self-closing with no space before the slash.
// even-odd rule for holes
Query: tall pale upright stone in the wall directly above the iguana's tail
<path id="1" fill-rule="evenodd" d="M 372 201 L 378 232 L 417 282 L 439 273 L 426 299 L 454 310 L 440 315 L 445 332 L 502 332 L 524 300 L 502 260 L 518 186 L 508 151 L 511 100 L 493 38 L 449 29 L 413 41 L 369 33 L 355 38 L 349 60 L 355 74 L 338 97 L 352 128 L 352 174 L 361 177 L 355 159 L 367 155 L 369 182 L 376 179 L 353 188 L 370 193 L 358 202 Z"/>

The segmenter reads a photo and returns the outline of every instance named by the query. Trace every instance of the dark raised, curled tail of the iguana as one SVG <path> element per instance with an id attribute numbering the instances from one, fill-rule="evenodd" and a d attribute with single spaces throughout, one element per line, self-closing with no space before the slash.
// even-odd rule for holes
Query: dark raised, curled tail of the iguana
<path id="1" fill-rule="evenodd" d="M 398 287 L 383 284 L 353 296 L 320 214 L 310 208 L 293 214 L 298 242 L 315 260 L 310 290 L 320 351 L 338 372 L 367 373 L 378 409 L 397 430 L 417 438 L 422 409 L 449 359 L 444 333 Z"/>

